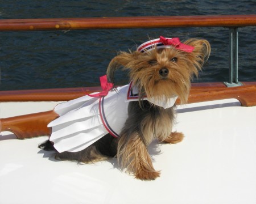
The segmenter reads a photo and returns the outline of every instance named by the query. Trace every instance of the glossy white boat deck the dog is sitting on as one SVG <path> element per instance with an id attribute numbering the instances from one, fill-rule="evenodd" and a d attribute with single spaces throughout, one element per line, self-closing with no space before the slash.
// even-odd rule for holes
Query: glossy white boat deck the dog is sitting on
<path id="1" fill-rule="evenodd" d="M 56 103 L 0 103 L 0 116 L 48 111 Z M 17 108 L 13 108 L 17 107 Z M 40 108 L 40 109 L 39 109 Z M 29 109 L 29 110 L 28 110 Z M 176 145 L 153 142 L 161 176 L 136 180 L 117 160 L 78 165 L 54 159 L 47 137 L 0 135 L 0 203 L 256 203 L 256 107 L 235 99 L 179 106 Z"/>

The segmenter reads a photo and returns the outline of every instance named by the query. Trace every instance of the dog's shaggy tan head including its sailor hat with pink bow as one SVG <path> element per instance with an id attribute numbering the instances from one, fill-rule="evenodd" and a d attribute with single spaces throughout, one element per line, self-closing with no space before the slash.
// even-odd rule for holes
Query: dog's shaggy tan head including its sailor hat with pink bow
<path id="1" fill-rule="evenodd" d="M 177 38 L 161 36 L 145 42 L 134 52 L 120 52 L 109 63 L 107 75 L 113 83 L 115 70 L 122 67 L 129 71 L 140 99 L 145 95 L 159 100 L 179 96 L 181 103 L 185 103 L 190 80 L 193 75 L 198 75 L 209 54 L 207 40 L 189 39 L 181 43 Z"/>

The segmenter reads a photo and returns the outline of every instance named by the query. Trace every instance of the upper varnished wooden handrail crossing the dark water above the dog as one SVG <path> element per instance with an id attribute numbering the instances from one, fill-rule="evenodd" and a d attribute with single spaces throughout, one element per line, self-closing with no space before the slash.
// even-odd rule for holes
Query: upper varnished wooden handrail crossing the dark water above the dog
<path id="1" fill-rule="evenodd" d="M 256 25 L 256 15 L 0 19 L 0 31 L 160 27 L 244 27 L 254 25 Z"/>

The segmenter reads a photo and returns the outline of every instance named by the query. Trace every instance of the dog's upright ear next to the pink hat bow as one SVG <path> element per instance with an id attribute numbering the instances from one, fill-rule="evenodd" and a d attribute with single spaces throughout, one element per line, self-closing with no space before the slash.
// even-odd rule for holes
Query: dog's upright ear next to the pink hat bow
<path id="1" fill-rule="evenodd" d="M 204 62 L 206 62 L 210 56 L 210 44 L 204 39 L 189 39 L 184 44 L 193 46 L 195 49 L 191 53 L 187 53 L 187 57 L 192 62 L 191 71 L 196 76 L 198 71 L 201 70 Z"/>

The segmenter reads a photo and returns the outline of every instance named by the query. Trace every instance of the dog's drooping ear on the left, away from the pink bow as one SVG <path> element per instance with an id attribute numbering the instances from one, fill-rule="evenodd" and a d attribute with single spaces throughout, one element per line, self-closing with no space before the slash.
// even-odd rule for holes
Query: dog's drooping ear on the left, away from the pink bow
<path id="1" fill-rule="evenodd" d="M 114 74 L 115 71 L 119 68 L 122 69 L 130 69 L 134 65 L 134 60 L 139 56 L 139 52 L 120 52 L 117 56 L 115 56 L 112 61 L 110 61 L 108 69 L 106 70 L 106 75 L 108 76 L 108 80 L 111 83 L 114 83 Z"/>

